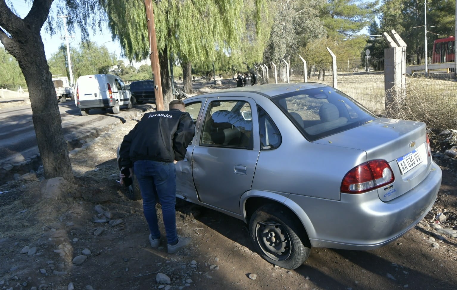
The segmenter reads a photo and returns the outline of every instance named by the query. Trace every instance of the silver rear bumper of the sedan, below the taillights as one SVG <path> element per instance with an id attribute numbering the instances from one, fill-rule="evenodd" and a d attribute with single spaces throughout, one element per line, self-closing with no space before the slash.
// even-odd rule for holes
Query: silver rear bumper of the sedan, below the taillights
<path id="1" fill-rule="evenodd" d="M 383 202 L 377 191 L 341 194 L 324 200 L 289 195 L 303 209 L 298 217 L 313 247 L 368 250 L 380 248 L 404 235 L 433 206 L 441 186 L 441 169 L 435 163 L 428 176 L 414 189 Z M 287 204 L 287 201 L 286 201 Z"/>

